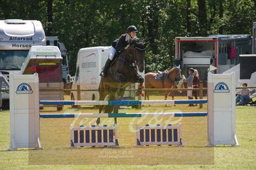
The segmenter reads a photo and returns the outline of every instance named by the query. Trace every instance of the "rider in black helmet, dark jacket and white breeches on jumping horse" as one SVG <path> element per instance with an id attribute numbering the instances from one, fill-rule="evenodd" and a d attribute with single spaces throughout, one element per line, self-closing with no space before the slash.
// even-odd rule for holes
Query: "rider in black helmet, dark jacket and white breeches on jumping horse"
<path id="1" fill-rule="evenodd" d="M 122 34 L 120 38 L 113 41 L 111 48 L 110 48 L 110 55 L 108 60 L 106 61 L 105 66 L 102 68 L 103 70 L 100 73 L 100 76 L 105 77 L 108 73 L 108 69 L 111 65 L 111 62 L 113 61 L 113 58 L 115 56 L 116 51 L 123 52 L 124 50 L 127 50 L 129 48 L 129 40 L 136 38 L 136 34 L 138 32 L 138 29 L 131 25 L 127 28 L 127 33 Z"/>

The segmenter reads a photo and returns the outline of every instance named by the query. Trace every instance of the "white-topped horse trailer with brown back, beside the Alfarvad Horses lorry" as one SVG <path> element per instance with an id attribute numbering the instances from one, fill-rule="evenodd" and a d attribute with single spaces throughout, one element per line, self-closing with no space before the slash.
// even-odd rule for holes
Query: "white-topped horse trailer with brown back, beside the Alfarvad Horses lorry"
<path id="1" fill-rule="evenodd" d="M 43 89 L 63 89 L 61 76 L 61 52 L 58 46 L 31 46 L 26 60 L 20 69 L 20 74 L 38 73 L 39 100 L 63 101 L 63 90 L 43 91 Z M 54 106 L 60 111 L 63 105 Z M 44 108 L 44 106 L 40 106 Z"/>

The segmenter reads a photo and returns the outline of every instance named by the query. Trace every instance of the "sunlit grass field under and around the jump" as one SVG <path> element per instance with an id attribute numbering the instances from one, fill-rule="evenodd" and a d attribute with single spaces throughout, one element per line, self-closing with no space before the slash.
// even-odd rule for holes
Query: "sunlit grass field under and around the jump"
<path id="1" fill-rule="evenodd" d="M 151 99 L 163 99 L 154 96 Z M 185 99 L 176 97 L 175 99 Z M 143 106 L 141 110 L 122 107 L 120 113 L 207 111 L 207 105 L 188 107 Z M 97 113 L 92 107 L 80 110 L 65 106 L 44 108 L 43 113 Z M 113 118 L 102 118 L 101 125 L 113 125 Z M 0 113 L 0 169 L 256 169 L 256 108 L 237 106 L 236 132 L 240 146 L 205 147 L 207 117 L 186 118 L 118 118 L 120 148 L 68 148 L 69 125 L 92 125 L 95 119 L 40 119 L 40 140 L 43 150 L 19 149 L 8 151 L 10 144 L 10 111 Z M 182 123 L 184 147 L 134 147 L 135 124 L 166 125 Z"/>

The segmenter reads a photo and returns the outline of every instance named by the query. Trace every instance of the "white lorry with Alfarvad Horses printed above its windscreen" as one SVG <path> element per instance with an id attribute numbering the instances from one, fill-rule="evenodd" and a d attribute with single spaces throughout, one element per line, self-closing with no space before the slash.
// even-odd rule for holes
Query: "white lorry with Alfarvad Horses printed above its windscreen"
<path id="1" fill-rule="evenodd" d="M 0 20 L 0 44 L 0 71 L 9 81 L 9 73 L 20 74 L 31 46 L 46 45 L 43 26 L 38 20 Z M 8 106 L 8 92 L 2 98 Z"/>

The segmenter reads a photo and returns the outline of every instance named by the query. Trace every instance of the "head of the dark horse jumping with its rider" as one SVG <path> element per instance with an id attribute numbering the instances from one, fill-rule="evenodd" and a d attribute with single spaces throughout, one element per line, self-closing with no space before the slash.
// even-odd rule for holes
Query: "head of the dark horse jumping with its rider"
<path id="1" fill-rule="evenodd" d="M 132 39 L 131 41 L 131 52 L 133 52 L 134 59 L 138 64 L 138 69 L 140 72 L 144 71 L 144 59 L 145 59 L 145 43 L 139 41 L 138 39 Z"/>

